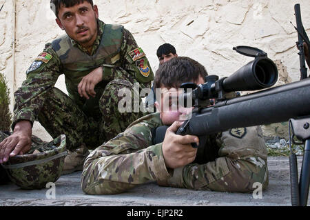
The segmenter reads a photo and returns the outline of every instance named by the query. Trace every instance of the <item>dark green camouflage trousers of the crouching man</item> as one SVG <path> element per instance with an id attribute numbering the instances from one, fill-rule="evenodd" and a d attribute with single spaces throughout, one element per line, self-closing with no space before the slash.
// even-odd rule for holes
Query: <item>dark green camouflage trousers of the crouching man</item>
<path id="1" fill-rule="evenodd" d="M 82 143 L 94 149 L 144 115 L 143 112 L 118 111 L 118 102 L 123 98 L 118 97 L 118 91 L 122 88 L 129 88 L 134 95 L 128 81 L 116 79 L 110 82 L 99 99 L 100 115 L 97 117 L 87 116 L 68 95 L 53 88 L 39 113 L 39 122 L 53 138 L 65 134 L 68 150 L 79 148 Z"/>

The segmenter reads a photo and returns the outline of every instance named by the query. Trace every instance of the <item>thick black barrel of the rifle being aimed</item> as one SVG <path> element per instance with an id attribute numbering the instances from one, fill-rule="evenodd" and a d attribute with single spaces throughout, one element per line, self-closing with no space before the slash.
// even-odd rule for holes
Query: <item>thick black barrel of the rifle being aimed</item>
<path id="1" fill-rule="evenodd" d="M 187 134 L 213 134 L 307 115 L 310 115 L 309 78 L 194 110 Z"/>

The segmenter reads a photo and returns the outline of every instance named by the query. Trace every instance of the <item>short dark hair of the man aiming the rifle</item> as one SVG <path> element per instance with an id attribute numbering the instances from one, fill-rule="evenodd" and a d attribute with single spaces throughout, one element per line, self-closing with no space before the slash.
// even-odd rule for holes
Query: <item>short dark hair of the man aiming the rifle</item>
<path id="1" fill-rule="evenodd" d="M 189 57 L 174 57 L 159 66 L 155 74 L 154 89 L 180 88 L 182 83 L 197 81 L 200 77 L 208 75 L 203 65 Z"/>

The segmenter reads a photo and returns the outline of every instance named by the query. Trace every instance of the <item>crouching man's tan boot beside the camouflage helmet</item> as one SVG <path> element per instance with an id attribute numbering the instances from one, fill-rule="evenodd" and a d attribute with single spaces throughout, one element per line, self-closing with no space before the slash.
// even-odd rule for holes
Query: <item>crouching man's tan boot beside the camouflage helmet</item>
<path id="1" fill-rule="evenodd" d="M 82 144 L 80 148 L 69 151 L 65 157 L 62 175 L 70 174 L 75 171 L 82 171 L 86 157 L 90 154 L 89 150 Z"/>

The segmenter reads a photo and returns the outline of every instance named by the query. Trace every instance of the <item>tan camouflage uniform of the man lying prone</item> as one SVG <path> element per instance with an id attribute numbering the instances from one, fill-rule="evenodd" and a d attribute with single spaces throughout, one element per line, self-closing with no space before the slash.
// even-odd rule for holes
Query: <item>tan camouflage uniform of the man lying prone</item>
<path id="1" fill-rule="evenodd" d="M 267 188 L 267 150 L 260 127 L 210 135 L 206 152 L 198 151 L 203 154 L 199 163 L 173 170 L 165 167 L 162 143 L 153 145 L 152 130 L 158 126 L 163 126 L 159 113 L 149 114 L 96 148 L 84 163 L 83 192 L 116 194 L 149 181 L 193 190 L 251 192 L 256 182 Z"/>

